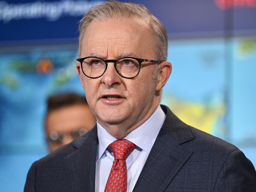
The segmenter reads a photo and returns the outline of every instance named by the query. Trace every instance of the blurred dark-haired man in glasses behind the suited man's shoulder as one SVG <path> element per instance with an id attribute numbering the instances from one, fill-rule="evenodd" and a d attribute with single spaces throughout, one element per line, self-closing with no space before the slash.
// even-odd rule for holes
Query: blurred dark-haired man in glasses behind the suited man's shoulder
<path id="1" fill-rule="evenodd" d="M 86 98 L 76 93 L 52 95 L 47 100 L 45 133 L 54 151 L 87 133 L 96 123 Z"/>

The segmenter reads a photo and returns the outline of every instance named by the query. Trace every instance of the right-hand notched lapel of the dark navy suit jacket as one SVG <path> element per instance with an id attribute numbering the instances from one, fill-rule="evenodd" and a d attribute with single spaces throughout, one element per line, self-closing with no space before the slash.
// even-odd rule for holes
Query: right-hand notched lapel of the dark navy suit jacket
<path id="1" fill-rule="evenodd" d="M 133 192 L 163 192 L 192 152 L 180 144 L 194 138 L 189 127 L 167 107 L 165 122 L 141 171 Z"/>

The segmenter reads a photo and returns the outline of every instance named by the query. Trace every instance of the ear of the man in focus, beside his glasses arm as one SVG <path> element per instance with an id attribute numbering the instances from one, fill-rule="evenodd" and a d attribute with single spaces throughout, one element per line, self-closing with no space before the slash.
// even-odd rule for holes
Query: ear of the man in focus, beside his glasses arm
<path id="1" fill-rule="evenodd" d="M 164 61 L 158 65 L 158 82 L 156 90 L 161 90 L 165 86 L 172 72 L 172 64 L 169 61 Z"/>

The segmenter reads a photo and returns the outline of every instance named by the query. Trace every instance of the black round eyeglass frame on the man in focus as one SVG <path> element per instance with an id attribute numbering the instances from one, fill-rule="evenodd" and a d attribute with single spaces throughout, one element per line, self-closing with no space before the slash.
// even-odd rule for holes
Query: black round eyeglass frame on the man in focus
<path id="1" fill-rule="evenodd" d="M 95 58 L 95 59 L 100 59 L 100 60 L 104 61 L 104 63 L 106 64 L 106 68 L 105 68 L 104 72 L 102 73 L 102 75 L 100 75 L 100 76 L 98 76 L 98 77 L 90 77 L 90 76 L 87 76 L 87 75 L 85 74 L 85 72 L 83 71 L 83 61 L 84 61 L 85 59 L 88 59 L 88 58 Z M 137 73 L 135 76 L 130 77 L 130 78 L 121 75 L 120 72 L 117 70 L 117 66 L 116 66 L 117 61 L 119 61 L 119 60 L 121 60 L 121 59 L 126 59 L 126 58 L 128 58 L 128 59 L 129 59 L 129 58 L 130 58 L 130 59 L 135 59 L 136 61 L 139 62 L 139 71 L 138 71 L 138 73 Z M 83 72 L 83 74 L 84 74 L 87 78 L 91 78 L 91 79 L 100 78 L 100 77 L 103 76 L 104 73 L 106 72 L 106 70 L 107 70 L 107 68 L 108 68 L 108 63 L 114 63 L 115 70 L 116 70 L 117 74 L 119 74 L 122 78 L 133 79 L 133 78 L 135 78 L 135 77 L 137 77 L 137 76 L 139 75 L 139 72 L 140 72 L 140 70 L 141 70 L 141 63 L 142 63 L 142 62 L 147 61 L 147 62 L 152 62 L 152 63 L 162 63 L 162 62 L 164 62 L 165 60 L 140 59 L 140 58 L 136 58 L 136 57 L 122 57 L 122 58 L 120 58 L 120 59 L 106 59 L 106 60 L 104 60 L 104 59 L 101 59 L 100 57 L 93 57 L 93 56 L 90 56 L 90 57 L 77 58 L 76 61 L 80 62 L 81 68 L 82 68 L 82 72 Z"/>

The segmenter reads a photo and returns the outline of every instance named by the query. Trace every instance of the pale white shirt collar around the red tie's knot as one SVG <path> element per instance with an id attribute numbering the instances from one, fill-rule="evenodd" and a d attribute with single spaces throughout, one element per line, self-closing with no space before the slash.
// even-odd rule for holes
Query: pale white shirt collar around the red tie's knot
<path id="1" fill-rule="evenodd" d="M 141 126 L 134 129 L 124 138 L 133 142 L 136 146 L 149 153 L 163 125 L 164 120 L 165 113 L 159 105 L 156 111 L 150 116 L 150 118 L 148 118 Z M 108 131 L 106 131 L 106 129 L 104 129 L 104 127 L 102 127 L 98 122 L 97 130 L 99 145 L 96 161 L 102 157 L 109 144 L 117 140 L 115 137 L 110 135 Z"/>

